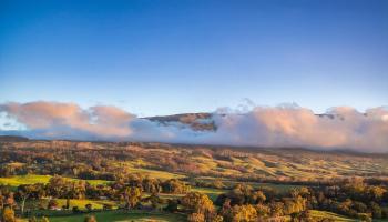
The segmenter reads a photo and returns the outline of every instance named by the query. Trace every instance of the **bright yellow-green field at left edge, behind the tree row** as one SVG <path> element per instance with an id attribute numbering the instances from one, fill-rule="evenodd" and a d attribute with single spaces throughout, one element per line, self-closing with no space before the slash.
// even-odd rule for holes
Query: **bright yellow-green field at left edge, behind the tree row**
<path id="1" fill-rule="evenodd" d="M 33 184 L 33 183 L 48 183 L 51 179 L 51 175 L 35 175 L 35 174 L 27 174 L 27 175 L 16 175 L 11 178 L 0 178 L 0 184 L 18 186 L 22 184 Z M 72 181 L 79 181 L 79 179 L 68 178 Z M 103 180 L 85 180 L 90 184 L 105 184 L 108 181 Z"/>

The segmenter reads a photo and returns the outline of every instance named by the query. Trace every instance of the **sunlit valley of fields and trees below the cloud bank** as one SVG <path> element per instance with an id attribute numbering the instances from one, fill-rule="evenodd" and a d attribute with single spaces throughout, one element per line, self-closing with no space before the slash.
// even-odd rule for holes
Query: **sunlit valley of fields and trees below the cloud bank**
<path id="1" fill-rule="evenodd" d="M 239 212 L 264 221 L 388 215 L 384 154 L 126 142 L 0 145 L 1 200 L 21 221 L 83 221 L 90 214 L 98 221 L 233 221 L 245 215 Z"/>

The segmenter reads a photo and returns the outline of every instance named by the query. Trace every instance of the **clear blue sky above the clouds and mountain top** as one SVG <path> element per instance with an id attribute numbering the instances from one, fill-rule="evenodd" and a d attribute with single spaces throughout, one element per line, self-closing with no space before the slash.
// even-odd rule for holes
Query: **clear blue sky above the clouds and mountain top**
<path id="1" fill-rule="evenodd" d="M 0 1 L 0 103 L 388 104 L 388 1 Z"/>

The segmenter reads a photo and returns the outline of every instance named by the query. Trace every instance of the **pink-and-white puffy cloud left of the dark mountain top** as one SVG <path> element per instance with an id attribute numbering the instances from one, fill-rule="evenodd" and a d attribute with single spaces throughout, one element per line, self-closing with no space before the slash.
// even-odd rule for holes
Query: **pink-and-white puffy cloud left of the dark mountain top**
<path id="1" fill-rule="evenodd" d="M 129 122 L 135 118 L 115 107 L 100 105 L 84 110 L 74 103 L 59 102 L 12 102 L 1 104 L 1 111 L 28 129 L 50 138 L 68 138 L 65 133 L 101 138 L 127 137 L 131 134 Z"/>

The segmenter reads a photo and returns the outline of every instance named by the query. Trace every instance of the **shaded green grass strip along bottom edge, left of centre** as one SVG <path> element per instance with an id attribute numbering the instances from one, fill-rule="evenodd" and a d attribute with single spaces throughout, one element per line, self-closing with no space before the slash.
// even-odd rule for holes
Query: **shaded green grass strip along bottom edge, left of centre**
<path id="1" fill-rule="evenodd" d="M 76 214 L 76 215 L 69 215 L 69 216 L 51 216 L 50 222 L 83 222 L 84 218 L 88 214 Z M 126 222 L 126 221 L 153 221 L 153 222 L 164 222 L 164 221 L 171 221 L 171 222 L 180 222 L 180 221 L 186 221 L 185 215 L 181 214 L 172 214 L 172 213 L 164 213 L 164 212 L 143 212 L 143 211 L 109 211 L 109 212 L 98 212 L 93 213 L 95 219 L 98 221 L 120 221 L 120 222 Z"/>

